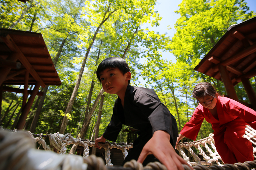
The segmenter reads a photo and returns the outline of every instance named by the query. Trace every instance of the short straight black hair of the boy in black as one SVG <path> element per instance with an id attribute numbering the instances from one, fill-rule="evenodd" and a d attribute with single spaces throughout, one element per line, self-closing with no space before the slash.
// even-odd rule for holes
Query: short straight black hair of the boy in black
<path id="1" fill-rule="evenodd" d="M 107 68 L 118 68 L 123 75 L 130 71 L 127 62 L 124 59 L 120 57 L 106 58 L 103 61 L 101 61 L 96 71 L 96 75 L 99 82 L 101 82 L 99 77 L 100 73 L 102 73 Z M 128 80 L 128 83 L 130 84 L 130 80 Z"/>

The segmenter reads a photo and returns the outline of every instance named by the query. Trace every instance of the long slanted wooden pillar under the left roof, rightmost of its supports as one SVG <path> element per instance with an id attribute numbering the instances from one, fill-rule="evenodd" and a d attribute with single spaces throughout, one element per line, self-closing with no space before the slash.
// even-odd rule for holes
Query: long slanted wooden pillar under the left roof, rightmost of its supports
<path id="1" fill-rule="evenodd" d="M 37 82 L 33 91 L 32 91 L 32 94 L 29 97 L 29 100 L 28 100 L 27 104 L 22 109 L 22 113 L 20 115 L 20 118 L 19 118 L 19 121 L 18 121 L 18 124 L 17 124 L 17 129 L 23 129 L 23 127 L 26 123 L 26 119 L 27 119 L 29 110 L 31 109 L 31 106 L 33 104 L 33 101 L 35 99 L 35 96 L 36 96 L 39 88 L 40 88 L 40 82 Z"/>

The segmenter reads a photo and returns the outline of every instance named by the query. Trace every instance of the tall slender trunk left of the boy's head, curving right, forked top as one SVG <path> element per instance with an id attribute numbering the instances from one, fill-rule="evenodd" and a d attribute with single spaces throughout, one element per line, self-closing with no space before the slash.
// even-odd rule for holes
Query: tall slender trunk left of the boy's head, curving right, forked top
<path id="1" fill-rule="evenodd" d="M 81 69 L 80 69 L 80 73 L 79 73 L 79 76 L 76 80 L 76 83 L 75 83 L 75 88 L 73 90 L 73 93 L 71 95 L 71 98 L 69 100 L 69 103 L 68 103 L 68 106 L 67 106 L 67 109 L 65 111 L 65 116 L 63 117 L 63 120 L 62 120 L 62 123 L 61 123 L 61 126 L 60 126 L 60 129 L 59 129 L 59 133 L 61 134 L 64 134 L 65 133 L 65 130 L 67 128 L 67 125 L 68 125 L 68 118 L 66 116 L 67 113 L 71 113 L 71 110 L 72 110 L 72 107 L 73 107 L 73 104 L 75 102 L 75 96 L 76 96 L 76 93 L 78 91 L 78 88 L 79 88 L 79 85 L 80 85 L 80 81 L 81 81 L 81 78 L 82 78 L 82 75 L 83 75 L 83 72 L 84 72 L 84 67 L 85 67 L 85 63 L 86 63 L 86 60 L 87 60 L 87 57 L 89 55 L 89 52 L 92 48 L 92 45 L 96 39 L 96 35 L 98 34 L 98 31 L 99 31 L 99 28 L 109 19 L 109 17 L 117 10 L 114 10 L 113 12 L 110 12 L 109 13 L 109 8 L 110 8 L 111 4 L 109 5 L 107 11 L 105 12 L 105 16 L 108 14 L 108 16 L 105 18 L 103 18 L 103 20 L 101 21 L 101 23 L 99 24 L 99 26 L 97 27 L 95 33 L 94 33 L 94 36 L 92 38 L 92 42 L 90 43 L 89 47 L 87 48 L 87 51 L 86 51 L 86 54 L 85 54 L 85 57 L 83 59 L 83 62 L 82 62 L 82 66 L 81 66 Z"/>

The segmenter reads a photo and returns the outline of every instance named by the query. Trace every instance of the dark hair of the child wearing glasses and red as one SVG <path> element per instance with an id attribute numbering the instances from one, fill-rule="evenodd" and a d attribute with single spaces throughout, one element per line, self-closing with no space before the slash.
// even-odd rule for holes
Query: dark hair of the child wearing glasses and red
<path id="1" fill-rule="evenodd" d="M 193 97 L 198 99 L 199 97 L 204 97 L 206 95 L 216 97 L 216 93 L 218 94 L 217 90 L 211 83 L 202 82 L 198 83 L 193 90 Z M 219 95 L 219 94 L 218 94 Z"/>

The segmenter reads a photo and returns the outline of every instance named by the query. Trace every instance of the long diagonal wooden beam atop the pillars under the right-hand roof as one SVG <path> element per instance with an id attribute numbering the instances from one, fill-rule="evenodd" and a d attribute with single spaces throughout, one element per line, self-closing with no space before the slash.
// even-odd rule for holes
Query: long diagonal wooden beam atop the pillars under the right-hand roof
<path id="1" fill-rule="evenodd" d="M 229 57 L 228 59 L 217 64 L 216 66 L 213 67 L 213 70 L 216 72 L 216 71 L 218 71 L 219 65 L 227 66 L 227 65 L 232 64 L 232 63 L 234 63 L 234 62 L 236 62 L 254 52 L 256 52 L 256 44 L 251 45 L 250 47 L 244 49 L 243 51 L 240 51 L 233 57 Z"/>

